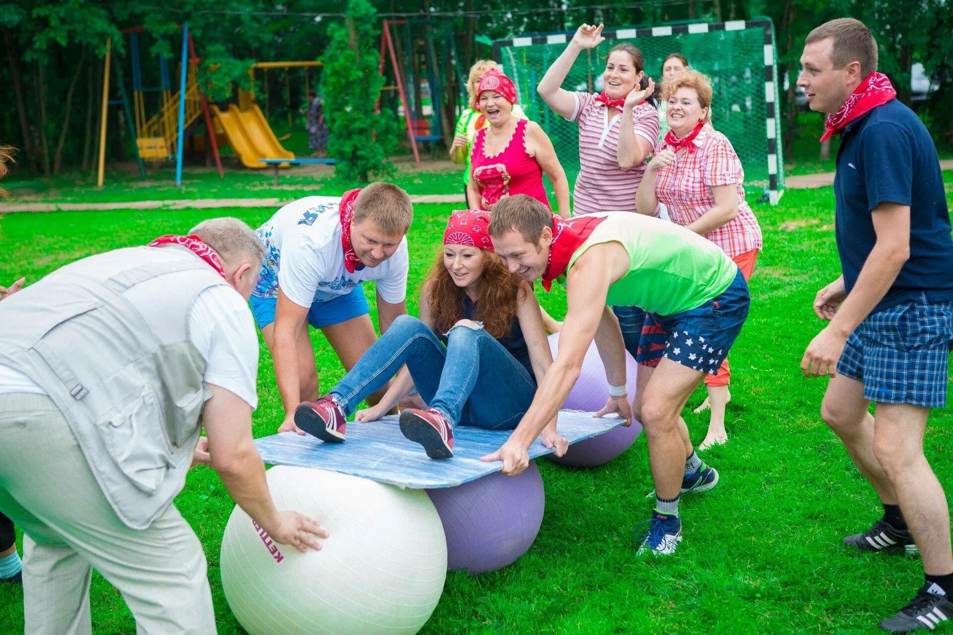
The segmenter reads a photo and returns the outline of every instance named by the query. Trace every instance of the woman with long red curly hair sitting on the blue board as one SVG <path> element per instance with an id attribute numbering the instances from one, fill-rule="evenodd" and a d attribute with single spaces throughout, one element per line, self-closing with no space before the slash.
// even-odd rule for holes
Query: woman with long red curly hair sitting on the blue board
<path id="1" fill-rule="evenodd" d="M 401 412 L 400 430 L 431 458 L 454 455 L 457 424 L 517 427 L 553 357 L 533 288 L 503 267 L 489 225 L 486 211 L 451 215 L 420 292 L 419 319 L 397 317 L 331 392 L 297 408 L 297 427 L 325 442 L 344 441 L 345 418 L 395 373 L 383 399 L 355 419 L 379 419 L 416 388 L 428 407 Z M 540 440 L 558 456 L 566 451 L 555 417 Z"/>

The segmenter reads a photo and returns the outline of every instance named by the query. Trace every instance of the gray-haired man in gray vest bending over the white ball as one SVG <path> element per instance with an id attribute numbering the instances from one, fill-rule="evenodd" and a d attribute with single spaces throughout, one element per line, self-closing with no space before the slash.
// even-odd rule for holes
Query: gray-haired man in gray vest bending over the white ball
<path id="1" fill-rule="evenodd" d="M 26 632 L 90 633 L 95 567 L 137 632 L 214 633 L 205 555 L 172 505 L 195 463 L 275 542 L 327 537 L 275 509 L 253 445 L 263 256 L 251 228 L 217 218 L 0 303 L 0 511 L 25 534 Z"/>

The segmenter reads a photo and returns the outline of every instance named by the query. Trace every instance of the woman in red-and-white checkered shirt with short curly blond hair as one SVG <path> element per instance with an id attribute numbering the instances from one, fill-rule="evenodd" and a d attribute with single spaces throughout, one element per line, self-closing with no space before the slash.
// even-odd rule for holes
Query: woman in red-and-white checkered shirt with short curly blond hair
<path id="1" fill-rule="evenodd" d="M 744 200 L 744 171 L 728 138 L 711 125 L 711 81 L 686 69 L 662 85 L 669 132 L 656 144 L 636 194 L 642 214 L 656 214 L 659 203 L 673 223 L 712 241 L 751 277 L 761 248 L 758 219 Z M 700 449 L 724 443 L 725 405 L 731 400 L 728 361 L 718 375 L 705 377 L 711 423 Z M 703 407 L 704 405 L 702 405 Z"/>

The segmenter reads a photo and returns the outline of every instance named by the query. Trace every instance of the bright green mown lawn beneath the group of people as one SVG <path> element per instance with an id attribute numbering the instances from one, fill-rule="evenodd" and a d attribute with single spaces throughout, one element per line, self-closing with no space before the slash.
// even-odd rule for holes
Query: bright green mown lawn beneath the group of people
<path id="1" fill-rule="evenodd" d="M 947 173 L 945 177 L 951 179 Z M 410 287 L 433 262 L 451 206 L 416 206 L 408 237 Z M 791 190 L 777 208 L 757 207 L 765 248 L 752 279 L 754 302 L 732 351 L 735 374 L 727 446 L 708 450 L 720 486 L 682 503 L 685 540 L 658 561 L 635 556 L 632 530 L 647 518 L 652 488 L 644 437 L 594 469 L 540 462 L 546 514 L 535 544 L 501 571 L 448 575 L 426 633 L 875 633 L 879 619 L 922 584 L 917 560 L 861 555 L 841 537 L 869 526 L 877 499 L 819 416 L 824 380 L 801 377 L 804 347 L 821 328 L 810 308 L 817 288 L 839 274 L 831 189 Z M 213 215 L 256 225 L 273 209 L 205 209 L 13 214 L 2 221 L 3 278 L 28 281 L 74 258 L 142 244 Z M 2 284 L 2 282 L 0 282 Z M 367 289 L 368 292 L 371 289 Z M 411 305 L 416 295 L 411 293 Z M 555 315 L 561 291 L 540 292 Z M 411 308 L 412 312 L 416 307 Z M 323 387 L 341 377 L 334 353 L 315 335 Z M 281 420 L 271 357 L 262 348 L 255 436 Z M 706 419 L 684 416 L 697 442 Z M 935 412 L 926 455 L 941 482 L 953 466 L 950 409 Z M 27 450 L 29 448 L 25 448 Z M 218 554 L 233 502 L 212 470 L 193 470 L 176 505 L 205 546 L 219 632 L 240 633 L 222 594 Z M 23 632 L 21 591 L 0 588 L 0 633 Z M 96 633 L 130 633 L 119 594 L 94 576 Z"/>

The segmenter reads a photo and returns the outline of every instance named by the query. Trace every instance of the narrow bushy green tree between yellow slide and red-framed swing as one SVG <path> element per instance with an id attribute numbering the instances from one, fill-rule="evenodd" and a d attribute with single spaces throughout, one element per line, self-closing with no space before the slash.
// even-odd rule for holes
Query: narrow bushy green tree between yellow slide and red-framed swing
<path id="1" fill-rule="evenodd" d="M 349 0 L 347 17 L 328 29 L 331 41 L 322 57 L 324 112 L 331 130 L 328 154 L 337 160 L 338 178 L 361 183 L 394 170 L 377 143 L 393 138 L 395 127 L 388 117 L 375 114 L 384 85 L 377 72 L 380 31 L 375 25 L 376 12 L 367 0 Z"/>

